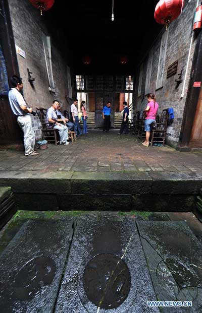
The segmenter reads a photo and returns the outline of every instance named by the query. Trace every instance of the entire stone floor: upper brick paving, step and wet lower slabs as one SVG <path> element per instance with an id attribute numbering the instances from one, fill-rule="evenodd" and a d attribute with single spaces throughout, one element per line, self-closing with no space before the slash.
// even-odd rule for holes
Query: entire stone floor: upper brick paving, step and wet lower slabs
<path id="1" fill-rule="evenodd" d="M 115 131 L 39 152 L 0 151 L 2 313 L 202 312 L 200 152 Z"/>

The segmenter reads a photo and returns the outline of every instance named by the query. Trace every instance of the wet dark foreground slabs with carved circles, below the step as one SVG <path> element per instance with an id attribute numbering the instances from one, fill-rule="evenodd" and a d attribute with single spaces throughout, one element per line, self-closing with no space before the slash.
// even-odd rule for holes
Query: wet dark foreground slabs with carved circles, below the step
<path id="1" fill-rule="evenodd" d="M 159 299 L 192 301 L 183 312 L 200 312 L 201 243 L 185 221 L 31 213 L 18 212 L 0 232 L 0 244 L 11 240 L 0 256 L 2 312 L 83 313 L 83 303 L 89 313 L 159 312 L 146 304 Z"/>

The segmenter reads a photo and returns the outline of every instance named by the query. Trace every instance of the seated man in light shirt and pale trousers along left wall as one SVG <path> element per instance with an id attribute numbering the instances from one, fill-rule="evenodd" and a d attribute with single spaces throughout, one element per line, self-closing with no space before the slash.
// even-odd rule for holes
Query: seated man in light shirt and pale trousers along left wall
<path id="1" fill-rule="evenodd" d="M 52 107 L 47 110 L 46 117 L 49 122 L 49 128 L 54 128 L 59 131 L 60 135 L 60 145 L 69 145 L 68 139 L 68 127 L 66 126 L 66 121 L 62 118 L 58 118 L 57 109 L 59 102 L 57 100 L 53 101 Z M 59 123 L 60 121 L 64 122 L 64 125 Z"/>

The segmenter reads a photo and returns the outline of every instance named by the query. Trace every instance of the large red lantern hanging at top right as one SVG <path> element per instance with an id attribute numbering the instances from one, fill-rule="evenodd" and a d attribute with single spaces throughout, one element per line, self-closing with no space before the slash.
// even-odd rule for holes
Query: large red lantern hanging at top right
<path id="1" fill-rule="evenodd" d="M 160 0 L 155 9 L 155 20 L 159 24 L 166 24 L 175 20 L 182 12 L 184 0 Z"/>

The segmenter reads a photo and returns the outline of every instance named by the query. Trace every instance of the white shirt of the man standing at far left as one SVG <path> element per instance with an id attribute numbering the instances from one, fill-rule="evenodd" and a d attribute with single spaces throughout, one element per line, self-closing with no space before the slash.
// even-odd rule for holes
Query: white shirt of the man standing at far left
<path id="1" fill-rule="evenodd" d="M 11 88 L 9 91 L 9 102 L 15 115 L 24 116 L 29 114 L 21 109 L 21 105 L 27 106 L 27 104 L 21 93 L 16 88 Z"/>

